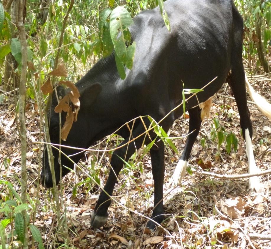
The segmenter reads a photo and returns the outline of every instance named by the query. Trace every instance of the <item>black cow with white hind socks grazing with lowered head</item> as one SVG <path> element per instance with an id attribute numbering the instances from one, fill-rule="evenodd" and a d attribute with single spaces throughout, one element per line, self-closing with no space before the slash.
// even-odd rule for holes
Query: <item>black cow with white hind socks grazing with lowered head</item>
<path id="1" fill-rule="evenodd" d="M 227 80 L 237 102 L 241 129 L 246 140 L 249 158 L 249 171 L 255 171 L 256 165 L 252 151 L 252 122 L 246 102 L 245 73 L 242 64 L 243 20 L 232 0 L 168 0 L 164 3 L 169 16 L 171 31 L 164 24 L 159 8 L 142 11 L 130 26 L 136 52 L 132 70 L 126 69 L 126 78 L 120 79 L 114 54 L 100 59 L 89 72 L 76 83 L 81 94 L 81 109 L 78 121 L 73 124 L 63 145 L 88 148 L 95 141 L 113 133 L 125 122 L 138 116 L 149 115 L 159 122 L 166 114 L 182 102 L 183 84 L 186 89 L 201 89 L 203 92 L 192 97 L 186 103 L 190 115 L 189 132 L 184 152 L 172 177 L 172 184 L 180 182 L 192 146 L 200 130 L 201 106 L 212 97 Z M 67 93 L 63 87 L 57 88 L 59 96 Z M 59 142 L 59 115 L 55 113 L 56 97 L 52 99 L 49 114 L 50 139 Z M 160 125 L 168 131 L 175 119 L 183 114 L 180 106 L 171 112 Z M 62 113 L 62 124 L 65 113 Z M 145 125 L 149 119 L 143 117 Z M 131 125 L 130 125 L 131 128 Z M 117 131 L 125 138 L 122 145 L 145 131 L 140 119 L 136 119 L 132 134 L 127 126 Z M 141 136 L 129 145 L 125 145 L 112 155 L 108 180 L 101 191 L 91 218 L 94 228 L 101 227 L 107 220 L 107 208 L 116 175 L 142 143 L 148 144 L 150 138 Z M 82 156 L 77 150 L 61 149 L 72 160 L 78 162 Z M 151 148 L 151 165 L 154 178 L 154 209 L 152 219 L 158 223 L 164 218 L 163 182 L 164 182 L 164 144 L 156 142 Z M 77 153 L 77 154 L 76 154 Z M 53 149 L 56 182 L 60 180 L 58 151 Z M 76 155 L 74 155 L 76 154 Z M 48 165 L 48 155 L 43 154 L 41 180 L 45 187 L 52 187 L 52 175 Z M 61 163 L 68 168 L 73 164 L 64 156 Z M 62 176 L 69 172 L 62 166 Z M 258 180 L 255 178 L 254 180 Z M 252 182 L 251 182 L 252 183 Z M 254 181 L 251 187 L 258 187 Z M 148 222 L 149 228 L 155 223 Z"/>

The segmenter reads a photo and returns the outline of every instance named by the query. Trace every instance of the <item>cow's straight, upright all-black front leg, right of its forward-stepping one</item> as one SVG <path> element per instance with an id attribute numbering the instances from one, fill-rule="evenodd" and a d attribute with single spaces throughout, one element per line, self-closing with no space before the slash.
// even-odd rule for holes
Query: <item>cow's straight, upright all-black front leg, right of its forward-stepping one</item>
<path id="1" fill-rule="evenodd" d="M 151 218 L 157 223 L 164 220 L 164 206 L 163 206 L 163 186 L 165 175 L 165 152 L 164 144 L 161 143 L 159 148 L 155 145 L 151 149 L 151 170 L 154 178 L 154 209 Z M 154 229 L 156 224 L 149 220 L 147 227 Z"/>

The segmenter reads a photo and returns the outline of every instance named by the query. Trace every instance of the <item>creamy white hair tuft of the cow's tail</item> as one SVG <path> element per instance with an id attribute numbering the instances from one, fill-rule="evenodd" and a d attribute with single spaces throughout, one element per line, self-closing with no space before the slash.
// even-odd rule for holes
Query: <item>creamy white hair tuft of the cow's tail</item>
<path id="1" fill-rule="evenodd" d="M 246 77 L 246 88 L 249 92 L 249 96 L 255 102 L 259 110 L 263 114 L 265 114 L 266 117 L 271 119 L 271 104 L 260 94 L 254 91 L 253 87 L 249 84 L 247 77 Z"/>

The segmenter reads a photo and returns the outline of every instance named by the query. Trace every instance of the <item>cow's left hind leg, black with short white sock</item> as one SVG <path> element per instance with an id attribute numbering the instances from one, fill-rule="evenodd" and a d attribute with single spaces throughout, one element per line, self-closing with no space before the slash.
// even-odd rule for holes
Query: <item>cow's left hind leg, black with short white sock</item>
<path id="1" fill-rule="evenodd" d="M 197 135 L 200 131 L 200 107 L 194 107 L 188 110 L 189 113 L 189 135 L 185 143 L 185 149 L 182 152 L 174 173 L 169 180 L 169 186 L 180 185 L 182 183 L 182 177 L 186 173 L 187 161 L 189 159 L 192 147 L 196 141 Z"/>

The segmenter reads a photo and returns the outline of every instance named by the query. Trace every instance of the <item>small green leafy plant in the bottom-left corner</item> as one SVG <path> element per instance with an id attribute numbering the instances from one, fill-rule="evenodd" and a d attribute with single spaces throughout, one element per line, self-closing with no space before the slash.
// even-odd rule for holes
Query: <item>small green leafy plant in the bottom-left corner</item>
<path id="1" fill-rule="evenodd" d="M 30 220 L 27 212 L 26 224 L 23 218 L 23 212 L 30 210 L 30 205 L 22 203 L 20 196 L 10 182 L 0 180 L 0 184 L 6 185 L 10 191 L 10 195 L 5 197 L 5 201 L 0 202 L 0 214 L 5 217 L 0 223 L 0 249 L 21 247 L 25 240 L 25 226 L 30 229 L 33 239 L 38 243 L 38 248 L 43 249 L 40 231 L 35 225 L 29 224 Z M 11 228 L 8 233 L 6 232 L 7 226 Z"/>

